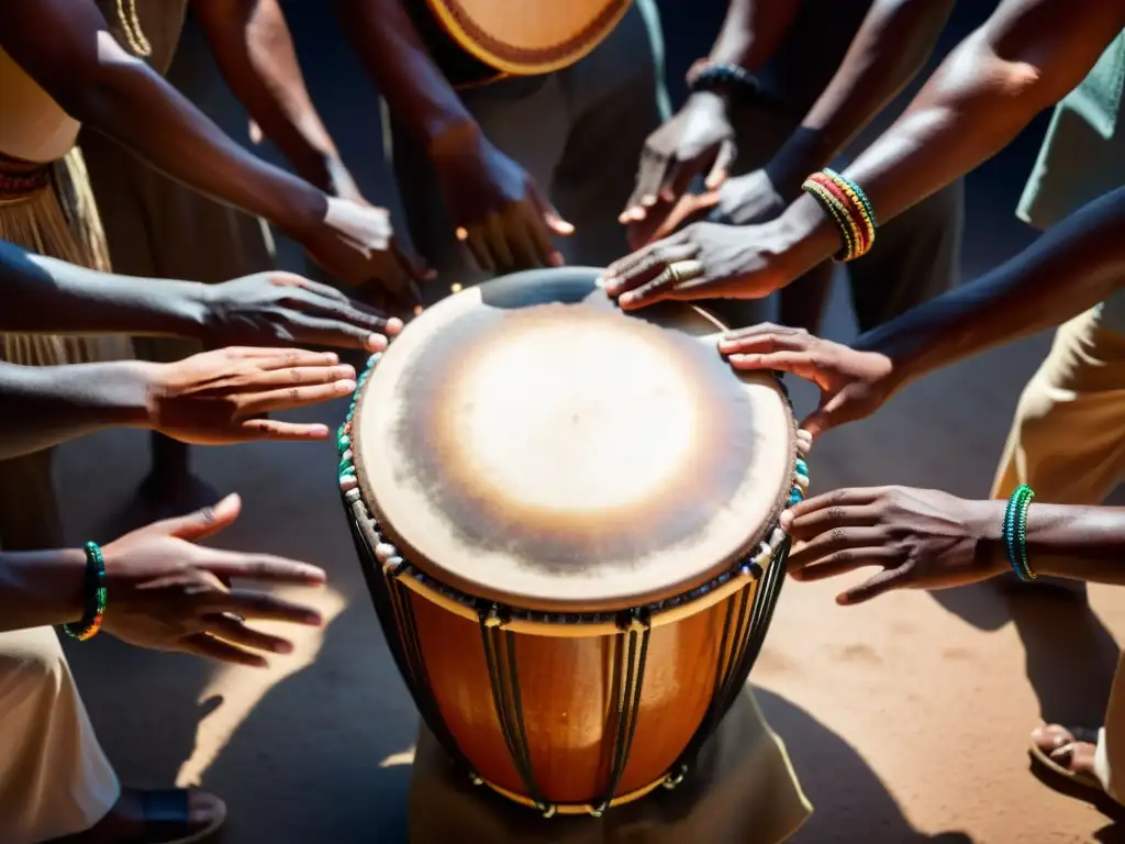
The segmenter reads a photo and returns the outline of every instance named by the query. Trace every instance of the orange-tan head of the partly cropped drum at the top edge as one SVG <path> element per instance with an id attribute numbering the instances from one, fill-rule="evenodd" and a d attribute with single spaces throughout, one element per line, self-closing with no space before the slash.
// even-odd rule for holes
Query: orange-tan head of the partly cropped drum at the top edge
<path id="1" fill-rule="evenodd" d="M 505 73 L 566 68 L 596 47 L 632 0 L 429 0 L 462 50 Z"/>

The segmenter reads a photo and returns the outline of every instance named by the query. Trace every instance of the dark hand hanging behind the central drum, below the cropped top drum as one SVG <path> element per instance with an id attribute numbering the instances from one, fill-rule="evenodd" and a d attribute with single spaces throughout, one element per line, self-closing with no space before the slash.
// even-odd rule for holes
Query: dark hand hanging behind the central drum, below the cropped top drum
<path id="1" fill-rule="evenodd" d="M 562 264 L 551 235 L 573 234 L 574 226 L 543 198 L 523 168 L 478 128 L 450 131 L 433 142 L 431 155 L 457 237 L 482 270 Z"/>

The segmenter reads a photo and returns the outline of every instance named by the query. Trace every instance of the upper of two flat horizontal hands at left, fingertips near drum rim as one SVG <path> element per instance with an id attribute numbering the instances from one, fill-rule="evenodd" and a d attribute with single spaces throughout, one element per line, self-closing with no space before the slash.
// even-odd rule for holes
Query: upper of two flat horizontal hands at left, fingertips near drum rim
<path id="1" fill-rule="evenodd" d="M 381 351 L 402 331 L 334 287 L 290 272 L 258 272 L 202 288 L 208 345 L 334 345 Z"/>

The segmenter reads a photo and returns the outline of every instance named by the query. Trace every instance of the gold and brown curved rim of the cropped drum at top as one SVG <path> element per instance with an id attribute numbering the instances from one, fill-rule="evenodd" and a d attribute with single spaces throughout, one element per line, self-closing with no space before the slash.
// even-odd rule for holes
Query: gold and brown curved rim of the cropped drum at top
<path id="1" fill-rule="evenodd" d="M 606 0 L 601 14 L 577 35 L 538 50 L 497 41 L 477 26 L 457 0 L 426 0 L 426 5 L 457 45 L 474 59 L 513 77 L 531 77 L 551 73 L 585 59 L 621 23 L 632 0 Z M 519 15 L 521 10 L 513 8 L 512 14 Z"/>

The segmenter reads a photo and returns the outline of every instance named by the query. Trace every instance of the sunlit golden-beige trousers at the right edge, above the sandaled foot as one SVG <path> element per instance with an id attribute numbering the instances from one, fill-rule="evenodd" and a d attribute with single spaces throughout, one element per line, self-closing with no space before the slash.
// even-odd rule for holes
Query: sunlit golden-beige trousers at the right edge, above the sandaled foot
<path id="1" fill-rule="evenodd" d="M 1007 497 L 1028 484 L 1035 501 L 1096 505 L 1123 477 L 1125 334 L 1104 327 L 1095 307 L 1059 329 L 1024 388 L 992 496 Z M 1098 751 L 1102 784 L 1125 799 L 1125 657 Z"/>

